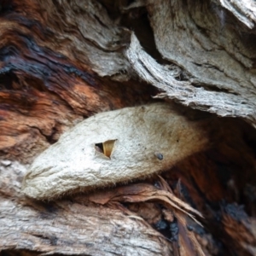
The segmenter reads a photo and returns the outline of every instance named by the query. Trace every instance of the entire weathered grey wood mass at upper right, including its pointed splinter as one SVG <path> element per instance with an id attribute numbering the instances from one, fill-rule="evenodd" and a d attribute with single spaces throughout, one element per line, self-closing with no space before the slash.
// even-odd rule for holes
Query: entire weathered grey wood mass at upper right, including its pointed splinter
<path id="1" fill-rule="evenodd" d="M 229 1 L 220 2 L 226 7 Z M 138 76 L 164 90 L 166 94 L 160 97 L 220 116 L 242 117 L 255 125 L 253 30 L 213 2 L 149 0 L 126 9 L 138 5 L 148 9 L 160 55 L 178 66 L 158 64 L 132 35 L 126 55 Z M 230 6 L 236 6 L 232 9 L 235 15 L 241 11 L 239 17 L 255 18 L 252 1 L 232 1 Z M 249 7 L 252 15 L 248 15 Z M 253 28 L 252 24 L 249 27 Z"/>

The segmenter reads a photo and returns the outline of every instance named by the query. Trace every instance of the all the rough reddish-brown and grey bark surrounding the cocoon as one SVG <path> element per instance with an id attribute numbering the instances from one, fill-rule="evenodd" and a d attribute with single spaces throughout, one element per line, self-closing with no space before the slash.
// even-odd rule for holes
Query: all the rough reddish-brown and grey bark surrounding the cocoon
<path id="1" fill-rule="evenodd" d="M 255 9 L 0 0 L 0 253 L 255 255 Z M 20 192 L 32 160 L 64 131 L 154 98 L 212 119 L 207 148 L 143 182 L 51 202 Z"/>

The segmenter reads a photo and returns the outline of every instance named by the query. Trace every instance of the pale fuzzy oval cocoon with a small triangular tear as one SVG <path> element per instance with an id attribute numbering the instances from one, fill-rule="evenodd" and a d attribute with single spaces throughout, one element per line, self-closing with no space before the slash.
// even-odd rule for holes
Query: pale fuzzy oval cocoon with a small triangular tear
<path id="1" fill-rule="evenodd" d="M 189 121 L 166 102 L 97 113 L 34 160 L 23 192 L 50 200 L 170 169 L 206 147 L 202 122 Z M 98 147 L 108 141 L 109 157 Z"/>

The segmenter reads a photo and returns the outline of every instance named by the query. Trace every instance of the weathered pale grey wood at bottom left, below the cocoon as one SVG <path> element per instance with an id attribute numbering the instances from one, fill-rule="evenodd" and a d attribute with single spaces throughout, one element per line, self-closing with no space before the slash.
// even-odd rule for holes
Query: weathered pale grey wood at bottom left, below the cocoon
<path id="1" fill-rule="evenodd" d="M 4 162 L 3 162 L 4 163 Z M 80 200 L 26 200 L 20 193 L 26 166 L 0 165 L 0 251 L 27 249 L 86 255 L 171 255 L 170 243 L 142 218 Z M 14 199 L 14 200 L 11 200 Z M 86 201 L 86 196 L 84 196 Z"/>

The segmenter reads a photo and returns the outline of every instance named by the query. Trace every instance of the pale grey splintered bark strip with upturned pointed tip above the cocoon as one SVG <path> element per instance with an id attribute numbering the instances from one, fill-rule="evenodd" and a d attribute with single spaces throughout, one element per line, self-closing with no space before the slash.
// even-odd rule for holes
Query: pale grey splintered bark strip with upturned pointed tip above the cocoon
<path id="1" fill-rule="evenodd" d="M 254 102 L 241 95 L 206 90 L 187 81 L 177 81 L 167 67 L 158 64 L 143 50 L 134 34 L 131 35 L 131 45 L 125 54 L 141 79 L 163 90 L 156 97 L 169 98 L 220 116 L 242 117 L 255 125 Z"/>

